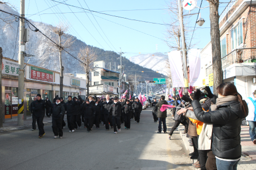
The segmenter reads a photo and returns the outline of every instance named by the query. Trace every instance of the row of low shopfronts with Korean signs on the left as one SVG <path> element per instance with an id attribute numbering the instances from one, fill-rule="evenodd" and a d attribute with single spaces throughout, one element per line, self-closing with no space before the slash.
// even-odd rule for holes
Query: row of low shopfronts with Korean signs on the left
<path id="1" fill-rule="evenodd" d="M 4 109 L 4 119 L 12 119 L 17 116 L 18 81 L 18 61 L 3 58 L 2 106 Z M 67 101 L 68 95 L 73 97 L 80 95 L 85 99 L 85 84 L 86 79 L 75 77 L 72 74 L 64 74 L 63 99 Z M 48 97 L 50 101 L 53 101 L 56 95 L 60 96 L 60 73 L 27 64 L 25 67 L 24 119 L 26 119 L 26 116 L 31 116 L 30 103 L 37 94 L 40 94 L 43 99 Z"/>

